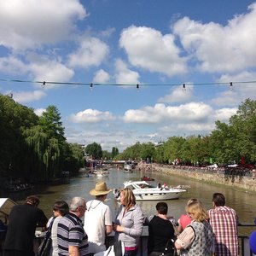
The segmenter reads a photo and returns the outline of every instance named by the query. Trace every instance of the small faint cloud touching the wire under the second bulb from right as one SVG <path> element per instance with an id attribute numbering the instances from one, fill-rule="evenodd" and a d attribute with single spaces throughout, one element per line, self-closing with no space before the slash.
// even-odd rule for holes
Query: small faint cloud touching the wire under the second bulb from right
<path id="1" fill-rule="evenodd" d="M 170 94 L 160 97 L 160 103 L 188 102 L 194 96 L 194 85 L 183 85 L 174 87 Z"/>

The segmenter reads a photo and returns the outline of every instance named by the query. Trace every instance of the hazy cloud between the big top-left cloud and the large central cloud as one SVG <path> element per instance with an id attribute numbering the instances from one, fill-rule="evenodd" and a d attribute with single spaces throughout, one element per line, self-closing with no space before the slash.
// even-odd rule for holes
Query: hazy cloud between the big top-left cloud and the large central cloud
<path id="1" fill-rule="evenodd" d="M 99 66 L 109 52 L 108 45 L 98 38 L 87 37 L 80 42 L 79 49 L 68 56 L 71 67 Z"/>

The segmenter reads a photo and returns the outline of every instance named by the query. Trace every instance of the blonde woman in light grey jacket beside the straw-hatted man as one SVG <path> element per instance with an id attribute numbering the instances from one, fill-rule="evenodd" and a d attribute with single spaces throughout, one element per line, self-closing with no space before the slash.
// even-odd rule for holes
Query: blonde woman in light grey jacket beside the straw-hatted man
<path id="1" fill-rule="evenodd" d="M 145 217 L 130 188 L 121 189 L 120 203 L 121 206 L 113 224 L 115 241 L 124 242 L 125 256 L 136 256 Z"/>

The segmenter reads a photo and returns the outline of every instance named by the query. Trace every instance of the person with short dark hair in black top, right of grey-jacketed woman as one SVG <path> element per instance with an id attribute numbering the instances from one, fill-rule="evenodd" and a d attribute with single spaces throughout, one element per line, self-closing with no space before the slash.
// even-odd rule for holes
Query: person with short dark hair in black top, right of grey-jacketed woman
<path id="1" fill-rule="evenodd" d="M 158 202 L 156 210 L 158 214 L 148 218 L 148 256 L 173 255 L 176 237 L 166 202 Z"/>

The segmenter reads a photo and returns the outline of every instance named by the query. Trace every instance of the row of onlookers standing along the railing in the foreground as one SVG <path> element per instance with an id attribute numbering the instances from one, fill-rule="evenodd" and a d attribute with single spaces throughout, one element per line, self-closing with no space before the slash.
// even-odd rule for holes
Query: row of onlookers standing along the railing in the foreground
<path id="1" fill-rule="evenodd" d="M 190 199 L 185 207 L 186 214 L 174 223 L 167 216 L 168 206 L 164 201 L 157 202 L 154 216 L 145 216 L 129 188 L 120 190 L 120 207 L 113 219 L 110 207 L 104 203 L 111 190 L 106 183 L 98 182 L 95 189 L 90 190 L 90 195 L 95 196 L 91 201 L 74 197 L 69 206 L 66 201 L 56 201 L 54 218 L 49 220 L 38 208 L 38 197 L 28 196 L 24 205 L 13 207 L 9 214 L 3 255 L 35 255 L 36 227 L 47 227 L 47 222 L 52 239 L 50 255 L 53 256 L 104 255 L 102 252 L 108 249 L 106 237 L 112 232 L 114 241 L 124 245 L 123 255 L 136 256 L 144 224 L 148 225 L 149 256 L 239 255 L 238 218 L 234 209 L 225 206 L 224 195 L 214 193 L 212 209 L 208 211 L 199 199 Z"/>

